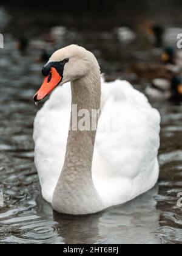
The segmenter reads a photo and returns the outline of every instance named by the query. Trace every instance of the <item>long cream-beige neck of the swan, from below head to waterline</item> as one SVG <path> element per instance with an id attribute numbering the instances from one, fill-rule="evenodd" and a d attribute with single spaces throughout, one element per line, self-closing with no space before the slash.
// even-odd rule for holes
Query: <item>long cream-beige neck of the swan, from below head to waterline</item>
<path id="1" fill-rule="evenodd" d="M 92 180 L 92 160 L 96 130 L 92 130 L 93 116 L 98 122 L 98 110 L 101 101 L 101 78 L 98 67 L 81 79 L 72 82 L 72 113 L 70 131 L 67 139 L 67 150 L 61 176 L 53 196 L 53 208 L 58 212 L 87 214 L 102 209 L 99 195 Z M 90 114 L 90 130 L 75 129 L 82 117 L 77 111 L 87 110 Z M 91 120 L 92 118 L 92 120 Z M 75 127 L 75 121 L 76 127 Z"/>

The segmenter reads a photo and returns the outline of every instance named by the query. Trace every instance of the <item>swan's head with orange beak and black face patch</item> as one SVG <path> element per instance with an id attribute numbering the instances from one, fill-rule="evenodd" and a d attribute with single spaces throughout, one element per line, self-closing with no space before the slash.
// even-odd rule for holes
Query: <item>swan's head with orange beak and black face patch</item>
<path id="1" fill-rule="evenodd" d="M 63 85 L 86 76 L 93 68 L 98 69 L 99 65 L 92 52 L 75 44 L 59 49 L 42 69 L 45 79 L 35 94 L 34 101 L 44 99 L 59 84 Z"/>

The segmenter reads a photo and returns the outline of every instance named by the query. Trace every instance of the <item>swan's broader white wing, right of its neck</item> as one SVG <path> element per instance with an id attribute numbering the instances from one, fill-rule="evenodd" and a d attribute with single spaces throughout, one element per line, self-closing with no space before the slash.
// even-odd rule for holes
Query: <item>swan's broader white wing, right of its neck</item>
<path id="1" fill-rule="evenodd" d="M 98 192 L 107 196 L 107 202 L 118 204 L 124 202 L 122 196 L 128 201 L 132 193 L 140 194 L 140 188 L 137 191 L 133 187 L 134 181 L 150 178 L 155 168 L 160 146 L 160 115 L 144 94 L 126 81 L 104 83 L 101 105 L 93 179 Z M 151 177 L 148 189 L 152 183 Z"/>

